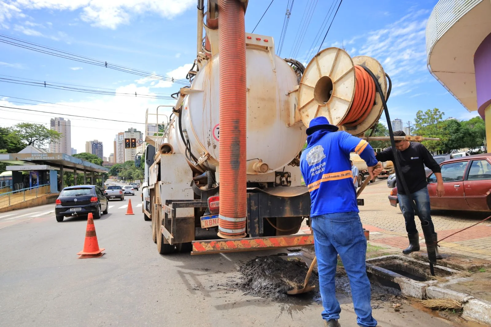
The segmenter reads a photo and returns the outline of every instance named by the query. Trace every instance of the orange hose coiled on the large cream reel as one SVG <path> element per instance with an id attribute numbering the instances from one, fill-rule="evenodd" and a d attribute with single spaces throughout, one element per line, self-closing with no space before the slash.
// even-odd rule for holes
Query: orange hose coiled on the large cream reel
<path id="1" fill-rule="evenodd" d="M 355 65 L 355 96 L 353 103 L 346 117 L 339 125 L 349 127 L 356 126 L 362 122 L 370 110 L 372 110 L 375 102 L 375 82 L 370 75 L 359 65 Z"/>

